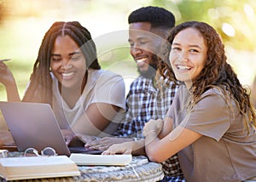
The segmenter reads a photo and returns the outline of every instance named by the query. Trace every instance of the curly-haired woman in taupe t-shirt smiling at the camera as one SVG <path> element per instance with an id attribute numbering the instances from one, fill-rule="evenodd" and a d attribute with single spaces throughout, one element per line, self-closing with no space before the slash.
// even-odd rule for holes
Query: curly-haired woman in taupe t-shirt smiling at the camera
<path id="1" fill-rule="evenodd" d="M 162 67 L 180 88 L 166 119 L 145 124 L 145 151 L 163 162 L 178 154 L 186 181 L 256 179 L 256 121 L 247 89 L 227 63 L 217 31 L 204 22 L 184 22 L 171 31 L 171 67 Z M 113 145 L 104 154 L 139 143 Z"/>

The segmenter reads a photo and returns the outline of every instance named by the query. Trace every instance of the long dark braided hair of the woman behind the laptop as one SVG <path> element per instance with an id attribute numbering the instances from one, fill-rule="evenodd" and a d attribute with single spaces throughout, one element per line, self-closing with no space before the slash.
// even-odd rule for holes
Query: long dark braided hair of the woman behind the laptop
<path id="1" fill-rule="evenodd" d="M 71 37 L 79 45 L 87 68 L 101 69 L 96 57 L 96 45 L 92 41 L 90 31 L 81 26 L 78 21 L 55 22 L 44 35 L 38 58 L 33 65 L 29 86 L 22 101 L 52 104 L 51 53 L 56 37 L 65 35 Z"/>

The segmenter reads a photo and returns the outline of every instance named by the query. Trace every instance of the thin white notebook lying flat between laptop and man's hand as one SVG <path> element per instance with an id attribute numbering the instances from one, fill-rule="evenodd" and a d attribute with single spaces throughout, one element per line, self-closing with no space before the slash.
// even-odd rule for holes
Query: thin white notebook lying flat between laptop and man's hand
<path id="1" fill-rule="evenodd" d="M 72 153 L 69 157 L 77 165 L 125 166 L 132 160 L 131 155 L 91 155 Z"/>

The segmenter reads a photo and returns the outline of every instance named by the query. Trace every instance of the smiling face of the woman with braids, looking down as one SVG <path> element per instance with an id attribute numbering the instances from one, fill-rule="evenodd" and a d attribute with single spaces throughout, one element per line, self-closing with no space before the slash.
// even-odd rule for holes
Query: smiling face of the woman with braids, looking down
<path id="1" fill-rule="evenodd" d="M 84 54 L 69 36 L 55 39 L 50 60 L 51 71 L 64 88 L 81 88 L 86 71 Z"/>

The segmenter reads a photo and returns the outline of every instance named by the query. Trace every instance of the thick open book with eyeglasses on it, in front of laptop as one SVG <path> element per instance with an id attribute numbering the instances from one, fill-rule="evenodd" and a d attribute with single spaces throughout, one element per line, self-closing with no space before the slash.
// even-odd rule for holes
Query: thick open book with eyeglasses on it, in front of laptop
<path id="1" fill-rule="evenodd" d="M 28 156 L 0 158 L 0 175 L 15 180 L 77 176 L 80 172 L 67 156 Z"/>

